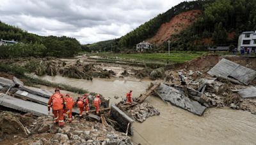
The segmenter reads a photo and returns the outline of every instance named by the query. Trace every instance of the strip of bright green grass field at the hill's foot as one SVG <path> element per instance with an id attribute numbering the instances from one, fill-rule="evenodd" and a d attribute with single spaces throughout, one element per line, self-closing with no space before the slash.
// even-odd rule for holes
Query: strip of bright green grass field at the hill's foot
<path id="1" fill-rule="evenodd" d="M 109 53 L 109 52 L 101 52 L 101 53 L 92 53 L 90 55 L 99 55 L 101 57 L 108 57 L 108 59 L 123 59 L 131 62 L 152 62 L 161 64 L 166 64 L 167 62 L 175 62 L 182 63 L 191 59 L 195 59 L 196 57 L 200 57 L 207 52 L 171 52 L 170 56 L 168 53 Z"/>

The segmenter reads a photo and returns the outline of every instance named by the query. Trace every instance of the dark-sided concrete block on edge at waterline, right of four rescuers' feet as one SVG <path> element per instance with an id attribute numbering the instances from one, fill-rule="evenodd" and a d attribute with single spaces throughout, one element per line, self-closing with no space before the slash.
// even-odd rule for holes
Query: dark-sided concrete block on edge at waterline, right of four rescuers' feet
<path id="1" fill-rule="evenodd" d="M 115 105 L 111 105 L 110 116 L 118 122 L 118 127 L 120 128 L 120 130 L 122 130 L 122 132 L 126 132 L 127 127 L 129 127 L 128 133 L 130 135 L 133 135 L 132 123 L 134 122 L 134 120 L 132 120 L 132 118 L 127 116 L 127 114 L 125 114 Z"/>

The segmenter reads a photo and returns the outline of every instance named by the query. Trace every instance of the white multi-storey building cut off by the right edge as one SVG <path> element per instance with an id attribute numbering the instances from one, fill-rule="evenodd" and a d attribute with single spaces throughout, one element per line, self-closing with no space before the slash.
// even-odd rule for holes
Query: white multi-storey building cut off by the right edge
<path id="1" fill-rule="evenodd" d="M 237 50 L 240 51 L 241 48 L 250 48 L 250 50 L 255 50 L 256 31 L 246 31 L 239 36 Z"/>

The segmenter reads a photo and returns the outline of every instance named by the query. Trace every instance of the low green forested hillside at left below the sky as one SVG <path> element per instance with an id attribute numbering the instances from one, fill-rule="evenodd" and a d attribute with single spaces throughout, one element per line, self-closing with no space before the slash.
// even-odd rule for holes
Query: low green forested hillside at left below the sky
<path id="1" fill-rule="evenodd" d="M 66 36 L 38 36 L 0 22 L 0 39 L 19 41 L 0 46 L 0 58 L 11 57 L 72 57 L 81 50 L 79 41 Z"/>

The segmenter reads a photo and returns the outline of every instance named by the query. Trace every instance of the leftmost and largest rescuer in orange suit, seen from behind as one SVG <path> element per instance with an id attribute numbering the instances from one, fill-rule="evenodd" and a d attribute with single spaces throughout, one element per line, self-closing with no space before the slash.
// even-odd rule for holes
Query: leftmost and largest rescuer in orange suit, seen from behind
<path id="1" fill-rule="evenodd" d="M 55 92 L 49 99 L 48 111 L 50 111 L 50 107 L 52 107 L 52 113 L 54 114 L 54 123 L 58 123 L 60 127 L 63 126 L 63 113 L 65 109 L 65 102 L 59 88 L 55 89 Z"/>

